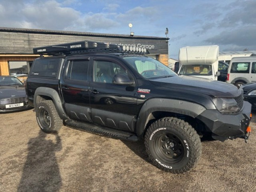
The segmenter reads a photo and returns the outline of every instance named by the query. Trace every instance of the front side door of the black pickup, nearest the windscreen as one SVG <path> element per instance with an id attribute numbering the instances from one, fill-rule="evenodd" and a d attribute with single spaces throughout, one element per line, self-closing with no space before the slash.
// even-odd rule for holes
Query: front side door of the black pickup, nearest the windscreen
<path id="1" fill-rule="evenodd" d="M 133 86 L 113 84 L 115 74 L 133 74 L 116 58 L 94 57 L 90 83 L 92 121 L 103 126 L 134 132 L 137 108 L 137 83 Z"/>

